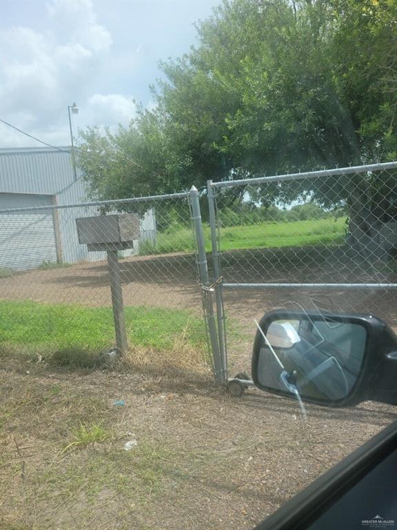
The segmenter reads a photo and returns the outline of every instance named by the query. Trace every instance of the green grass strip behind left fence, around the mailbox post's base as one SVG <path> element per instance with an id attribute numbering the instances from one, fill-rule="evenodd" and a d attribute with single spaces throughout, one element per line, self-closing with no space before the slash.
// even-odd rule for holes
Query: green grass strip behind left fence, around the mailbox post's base
<path id="1" fill-rule="evenodd" d="M 170 351 L 184 337 L 192 348 L 203 347 L 203 323 L 188 311 L 126 307 L 130 344 Z M 74 304 L 0 301 L 0 347 L 50 355 L 57 364 L 92 366 L 97 355 L 114 344 L 112 308 Z"/>

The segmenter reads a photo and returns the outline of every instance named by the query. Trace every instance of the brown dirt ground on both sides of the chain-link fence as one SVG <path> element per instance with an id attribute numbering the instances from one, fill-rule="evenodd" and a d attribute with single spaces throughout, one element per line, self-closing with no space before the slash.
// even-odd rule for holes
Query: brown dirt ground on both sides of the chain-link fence
<path id="1" fill-rule="evenodd" d="M 389 270 L 295 251 L 223 256 L 227 282 L 394 282 Z M 307 257 L 307 256 L 306 256 Z M 333 272 L 332 272 L 333 271 Z M 201 315 L 192 255 L 121 261 L 126 305 Z M 250 369 L 254 318 L 274 308 L 371 312 L 397 328 L 391 289 L 225 289 L 231 371 Z M 110 305 L 107 265 L 77 264 L 0 279 L 0 298 Z M 0 301 L 1 303 L 1 301 Z M 236 328 L 236 329 L 234 329 Z M 0 527 L 6 530 L 252 528 L 397 419 L 395 407 L 307 406 L 249 389 L 232 399 L 208 375 L 65 371 L 0 359 Z M 234 375 L 234 374 L 231 374 Z M 123 399 L 123 406 L 116 400 Z M 106 438 L 74 443 L 77 426 Z M 132 451 L 125 442 L 136 440 Z M 358 513 L 358 520 L 373 514 Z"/>

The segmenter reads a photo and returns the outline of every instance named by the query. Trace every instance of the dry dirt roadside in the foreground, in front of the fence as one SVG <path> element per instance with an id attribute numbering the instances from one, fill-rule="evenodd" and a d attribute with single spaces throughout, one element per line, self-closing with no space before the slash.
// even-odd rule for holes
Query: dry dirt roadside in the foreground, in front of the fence
<path id="1" fill-rule="evenodd" d="M 293 400 L 255 389 L 233 399 L 205 376 L 5 358 L 0 391 L 4 530 L 249 529 L 397 419 L 395 407 L 365 402 L 309 405 L 304 421 Z M 108 437 L 66 450 L 79 424 Z"/>

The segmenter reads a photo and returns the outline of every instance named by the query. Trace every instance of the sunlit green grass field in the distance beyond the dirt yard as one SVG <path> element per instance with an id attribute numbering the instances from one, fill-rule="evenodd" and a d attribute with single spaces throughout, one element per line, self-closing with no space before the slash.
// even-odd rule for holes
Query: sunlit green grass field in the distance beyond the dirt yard
<path id="1" fill-rule="evenodd" d="M 309 221 L 259 223 L 221 228 L 221 250 L 243 248 L 281 248 L 285 246 L 337 245 L 345 240 L 345 217 Z M 210 227 L 204 227 L 206 251 L 211 250 Z M 194 251 L 192 230 L 170 228 L 158 233 L 157 242 L 145 242 L 141 254 L 166 254 Z"/>

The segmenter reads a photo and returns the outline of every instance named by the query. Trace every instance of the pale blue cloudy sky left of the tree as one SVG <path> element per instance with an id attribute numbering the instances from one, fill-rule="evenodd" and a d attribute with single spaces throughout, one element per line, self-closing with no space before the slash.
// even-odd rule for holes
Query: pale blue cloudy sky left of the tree
<path id="1" fill-rule="evenodd" d="M 79 128 L 128 125 L 154 105 L 159 60 L 196 41 L 194 22 L 221 0 L 0 2 L 0 118 L 55 146 Z M 0 122 L 0 148 L 40 146 Z"/>

